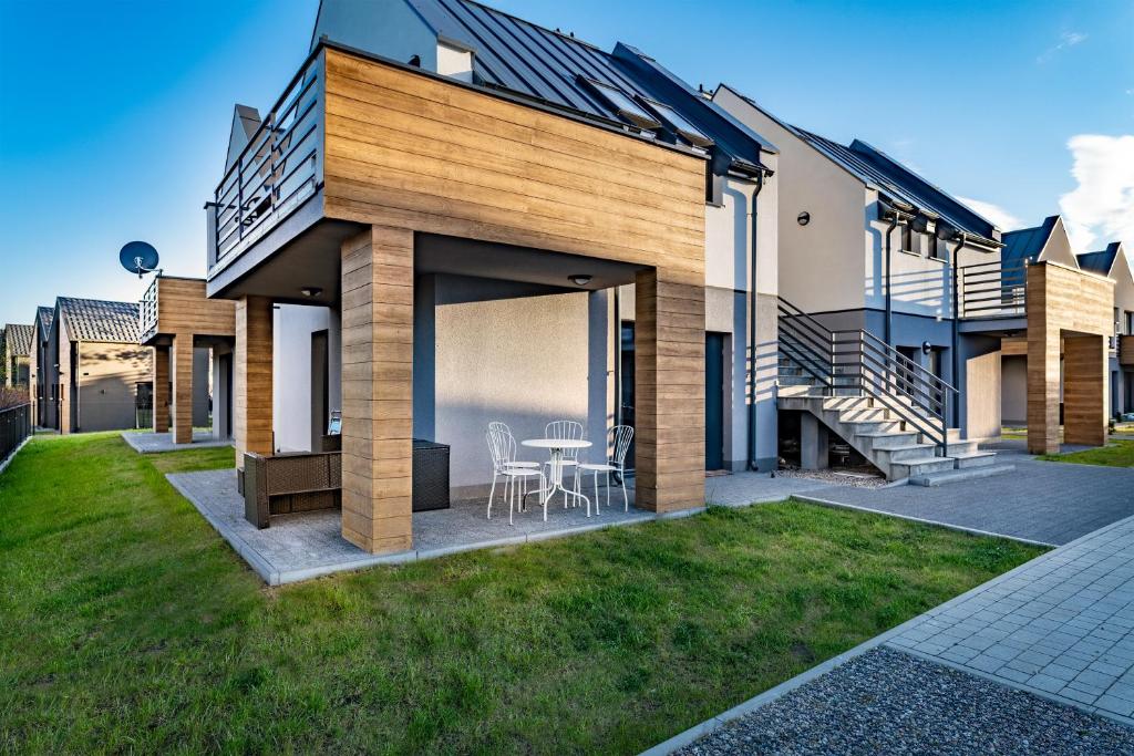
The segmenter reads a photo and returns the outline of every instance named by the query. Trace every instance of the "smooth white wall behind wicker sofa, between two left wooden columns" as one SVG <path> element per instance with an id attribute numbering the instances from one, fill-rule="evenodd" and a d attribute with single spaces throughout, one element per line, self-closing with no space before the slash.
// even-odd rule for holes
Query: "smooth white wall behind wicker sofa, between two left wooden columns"
<path id="1" fill-rule="evenodd" d="M 272 316 L 272 425 L 276 451 L 312 451 L 311 449 L 311 334 L 331 330 L 331 311 L 327 307 L 276 305 Z M 333 341 L 337 341 L 333 340 Z M 328 333 L 330 362 L 339 356 Z M 339 363 L 341 364 L 341 363 Z M 330 371 L 335 373 L 336 369 Z M 333 392 L 341 383 L 332 375 Z M 339 394 L 341 397 L 341 393 Z M 330 408 L 337 409 L 333 398 Z"/>

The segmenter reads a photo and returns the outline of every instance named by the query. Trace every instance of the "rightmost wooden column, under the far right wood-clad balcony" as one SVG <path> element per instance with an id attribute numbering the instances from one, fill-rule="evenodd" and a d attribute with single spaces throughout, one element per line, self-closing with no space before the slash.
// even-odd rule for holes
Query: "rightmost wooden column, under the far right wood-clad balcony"
<path id="1" fill-rule="evenodd" d="M 1101 335 L 1064 339 L 1064 442 L 1107 443 L 1107 340 Z"/>

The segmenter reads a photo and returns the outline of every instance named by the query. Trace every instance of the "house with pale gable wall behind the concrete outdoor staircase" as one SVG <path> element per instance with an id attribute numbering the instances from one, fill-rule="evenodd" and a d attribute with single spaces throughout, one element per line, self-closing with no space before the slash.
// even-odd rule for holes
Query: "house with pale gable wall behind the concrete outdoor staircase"
<path id="1" fill-rule="evenodd" d="M 1094 376 L 1102 368 L 1094 368 L 1110 332 L 1109 325 L 1100 330 L 1110 294 L 1098 277 L 1080 271 L 1069 246 L 1044 248 L 1039 264 L 1016 266 L 1016 245 L 1006 247 L 999 228 L 862 139 L 841 144 L 787 124 L 727 85 L 712 99 L 779 148 L 779 287 L 789 303 L 781 309 L 780 346 L 789 323 L 798 332 L 787 340 L 792 369 L 806 372 L 828 393 L 869 383 L 889 419 L 919 427 L 923 441 L 938 444 L 937 456 L 954 457 L 957 467 L 991 465 L 976 444 L 1000 434 L 1001 342 L 1026 333 L 1036 355 L 1027 383 L 1030 448 L 1058 449 L 1060 385 L 1073 389 L 1065 392 L 1075 410 L 1068 439 L 1101 443 L 1105 413 Z M 1049 226 L 1052 231 L 1056 223 Z M 1024 235 L 1018 241 L 1032 244 Z M 815 345 L 816 332 L 819 342 L 836 342 L 835 358 Z M 1065 342 L 1076 359 L 1060 377 L 1050 356 Z M 816 359 L 826 362 L 823 369 L 814 367 Z M 806 385 L 798 392 L 803 398 L 781 409 L 835 424 L 879 467 L 894 467 L 896 445 L 906 460 L 899 472 L 911 472 L 908 460 L 922 455 L 915 439 L 861 433 L 861 406 L 837 410 Z M 900 394 L 915 405 L 912 415 Z M 943 460 L 922 459 L 916 467 L 926 472 L 947 468 Z"/>

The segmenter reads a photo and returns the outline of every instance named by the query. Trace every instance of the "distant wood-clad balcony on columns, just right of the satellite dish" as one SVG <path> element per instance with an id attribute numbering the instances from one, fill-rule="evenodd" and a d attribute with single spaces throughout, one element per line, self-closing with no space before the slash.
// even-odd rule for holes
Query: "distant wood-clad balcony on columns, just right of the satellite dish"
<path id="1" fill-rule="evenodd" d="M 211 438 L 230 438 L 235 338 L 234 304 L 205 297 L 203 279 L 154 277 L 138 303 L 138 343 L 153 348 L 155 433 L 193 443 L 194 427 L 211 424 Z"/>

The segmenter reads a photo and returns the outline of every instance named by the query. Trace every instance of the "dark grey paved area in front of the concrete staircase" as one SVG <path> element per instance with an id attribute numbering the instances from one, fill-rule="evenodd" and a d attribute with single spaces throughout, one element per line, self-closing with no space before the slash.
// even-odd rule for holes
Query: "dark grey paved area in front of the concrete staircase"
<path id="1" fill-rule="evenodd" d="M 1043 462 L 1021 453 L 1001 457 L 1016 469 L 932 489 L 831 486 L 803 495 L 1053 545 L 1134 515 L 1132 468 Z"/>

